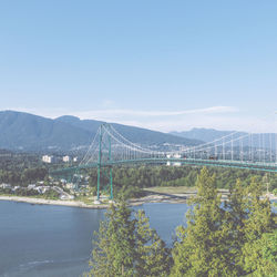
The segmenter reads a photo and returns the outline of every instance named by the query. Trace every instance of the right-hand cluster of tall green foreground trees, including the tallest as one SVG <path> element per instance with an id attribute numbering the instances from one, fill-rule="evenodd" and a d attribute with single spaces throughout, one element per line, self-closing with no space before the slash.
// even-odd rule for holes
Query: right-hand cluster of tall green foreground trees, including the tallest
<path id="1" fill-rule="evenodd" d="M 269 276 L 276 270 L 275 216 L 263 185 L 238 179 L 228 202 L 220 204 L 215 176 L 204 167 L 197 178 L 194 212 L 178 227 L 172 276 Z"/>

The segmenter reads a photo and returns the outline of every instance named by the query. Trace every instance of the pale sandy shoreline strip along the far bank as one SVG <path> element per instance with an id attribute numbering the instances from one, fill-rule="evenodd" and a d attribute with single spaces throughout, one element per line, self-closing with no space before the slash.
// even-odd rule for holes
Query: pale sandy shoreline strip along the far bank
<path id="1" fill-rule="evenodd" d="M 171 204 L 182 204 L 186 203 L 194 193 L 189 194 L 171 194 L 171 195 L 161 195 L 161 194 L 151 194 L 141 198 L 129 199 L 127 203 L 130 206 L 141 206 L 146 203 L 171 203 Z M 277 201 L 277 196 L 269 194 L 269 201 Z M 226 199 L 226 196 L 222 201 Z M 24 197 L 24 196 L 8 196 L 0 195 L 0 201 L 10 201 L 18 203 L 29 203 L 31 205 L 53 205 L 53 206 L 68 206 L 68 207 L 80 207 L 80 208 L 93 208 L 93 209 L 106 209 L 109 203 L 103 204 L 85 204 L 80 201 L 61 201 L 61 199 L 44 199 L 44 198 L 34 198 L 34 197 Z"/>

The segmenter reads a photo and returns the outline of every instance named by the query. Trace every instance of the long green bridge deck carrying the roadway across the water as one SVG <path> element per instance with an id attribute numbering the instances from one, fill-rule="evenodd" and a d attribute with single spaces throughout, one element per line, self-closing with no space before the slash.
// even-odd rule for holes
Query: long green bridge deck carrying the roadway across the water
<path id="1" fill-rule="evenodd" d="M 137 160 L 123 160 L 123 161 L 107 161 L 99 163 L 90 163 L 79 166 L 64 167 L 60 170 L 51 171 L 50 174 L 59 175 L 66 174 L 70 172 L 78 172 L 80 170 L 93 168 L 101 165 L 101 167 L 127 165 L 127 164 L 166 164 L 181 163 L 182 165 L 198 165 L 198 166 L 216 166 L 216 167 L 229 167 L 240 170 L 252 170 L 261 172 L 277 173 L 277 163 L 260 163 L 260 162 L 247 162 L 247 161 L 224 161 L 224 160 L 201 160 L 201 158 L 167 158 L 167 157 L 152 157 L 152 158 L 137 158 Z"/>

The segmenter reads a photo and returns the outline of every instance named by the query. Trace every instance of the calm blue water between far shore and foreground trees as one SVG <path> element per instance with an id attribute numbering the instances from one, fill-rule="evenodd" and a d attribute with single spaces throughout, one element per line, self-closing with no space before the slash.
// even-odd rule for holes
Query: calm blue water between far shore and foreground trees
<path id="1" fill-rule="evenodd" d="M 168 244 L 186 204 L 144 204 L 151 226 Z M 88 270 L 102 209 L 0 201 L 0 276 L 75 277 Z"/>

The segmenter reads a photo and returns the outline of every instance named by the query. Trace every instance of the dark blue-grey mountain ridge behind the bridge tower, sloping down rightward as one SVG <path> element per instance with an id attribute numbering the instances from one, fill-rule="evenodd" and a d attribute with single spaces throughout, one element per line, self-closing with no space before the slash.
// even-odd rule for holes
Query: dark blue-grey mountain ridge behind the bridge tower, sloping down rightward
<path id="1" fill-rule="evenodd" d="M 16 111 L 0 112 L 0 148 L 22 151 L 69 151 L 89 146 L 103 122 L 64 115 L 47 119 Z M 197 145 L 202 141 L 141 127 L 112 123 L 114 129 L 133 143 Z"/>

